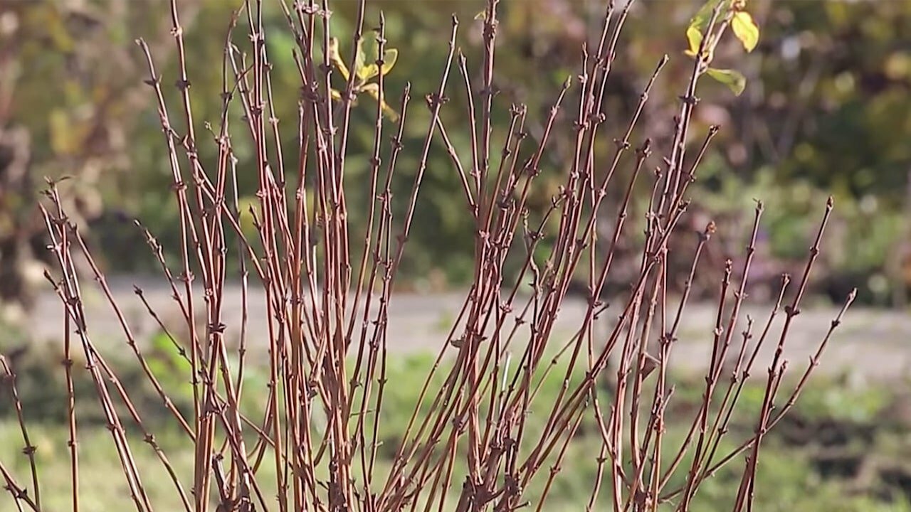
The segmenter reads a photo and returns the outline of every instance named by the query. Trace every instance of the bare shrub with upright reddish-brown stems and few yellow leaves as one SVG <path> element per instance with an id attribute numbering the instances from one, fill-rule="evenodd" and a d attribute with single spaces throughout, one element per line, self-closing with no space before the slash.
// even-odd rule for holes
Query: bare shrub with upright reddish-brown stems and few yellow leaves
<path id="1" fill-rule="evenodd" d="M 172 4 L 179 116 L 172 117 L 165 104 L 162 82 L 166 80 L 159 76 L 148 46 L 141 40 L 138 44 L 147 58 L 147 83 L 157 98 L 163 142 L 169 148 L 182 232 L 179 270 L 171 270 L 158 242 L 148 231 L 147 235 L 185 320 L 184 336 L 171 340 L 189 362 L 192 411 L 180 411 L 166 386 L 159 383 L 160 375 L 149 369 L 141 343 L 128 319 L 119 313 L 105 276 L 90 251 L 84 253 L 97 284 L 118 311 L 136 364 L 191 442 L 194 467 L 190 476 L 179 475 L 173 468 L 132 406 L 130 390 L 120 384 L 117 372 L 89 335 L 91 319 L 83 308 L 82 283 L 73 261 L 74 251 L 84 250 L 85 242 L 67 220 L 56 184 L 51 183 L 42 209 L 57 268 L 56 276 L 48 273 L 46 277 L 67 311 L 63 342 L 74 510 L 79 508 L 79 478 L 86 477 L 78 471 L 73 373 L 82 370 L 71 363 L 75 353 L 85 358 L 123 476 L 140 511 L 152 510 L 153 504 L 133 456 L 128 428 L 137 428 L 155 451 L 188 511 L 397 511 L 418 507 L 507 511 L 527 506 L 544 509 L 549 489 L 568 462 L 568 445 L 582 425 L 594 429 L 601 440 L 600 453 L 592 454 L 598 474 L 590 482 L 588 509 L 644 511 L 670 503 L 677 510 L 689 510 L 701 484 L 735 459 L 745 462 L 739 488 L 731 489 L 733 509 L 750 509 L 763 437 L 793 407 L 829 341 L 829 336 L 821 341 L 798 384 L 782 389 L 787 367 L 783 348 L 793 319 L 801 311 L 832 202 L 825 205 L 803 273 L 783 278 L 767 319 L 744 322 L 741 306 L 763 213 L 762 204 L 757 204 L 742 268 L 734 269 L 728 261 L 722 269 L 716 321 L 705 326 L 713 339 L 701 406 L 685 420 L 688 429 L 683 442 L 670 441 L 665 436 L 665 412 L 673 392 L 670 358 L 681 318 L 687 314 L 693 273 L 715 230 L 711 222 L 705 226 L 691 255 L 687 285 L 680 297 L 670 299 L 668 241 L 686 215 L 688 185 L 696 179 L 701 157 L 718 130 L 712 127 L 697 134 L 697 128 L 691 126 L 697 108 L 696 84 L 707 72 L 707 58 L 695 58 L 689 81 L 681 84 L 681 106 L 670 147 L 654 148 L 648 138 L 632 140 L 639 112 L 667 57 L 657 63 L 641 91 L 636 114 L 613 127 L 619 137 L 606 139 L 607 116 L 600 110 L 604 85 L 632 4 L 609 3 L 599 44 L 583 51 L 580 80 L 577 85 L 568 80 L 554 99 L 543 136 L 538 140 L 526 136 L 527 109 L 513 105 L 505 143 L 495 148 L 491 116 L 496 108 L 505 106 L 497 105 L 494 94 L 498 2 L 489 0 L 483 22 L 481 87 L 475 87 L 476 80 L 468 77 L 466 59 L 457 51 L 459 25 L 453 18 L 448 59 L 438 63 L 439 87 L 422 98 L 431 113 L 423 159 L 413 173 L 410 195 L 394 199 L 392 183 L 403 179 L 395 175 L 403 130 L 415 105 L 410 87 L 396 100 L 385 95 L 385 65 L 391 54 L 385 51 L 382 17 L 375 32 L 378 51 L 374 62 L 349 70 L 343 69 L 337 42 L 330 34 L 328 6 L 302 1 L 286 7 L 289 30 L 298 45 L 295 56 L 302 88 L 298 123 L 291 128 L 299 131 L 297 154 L 287 155 L 275 143 L 281 140 L 279 113 L 273 108 L 260 2 L 248 3 L 233 20 L 232 28 L 240 24 L 249 30 L 250 47 L 244 53 L 231 43 L 231 36 L 227 39 L 222 63 L 223 111 L 219 122 L 207 126 L 209 140 L 193 118 L 183 28 L 177 2 Z M 698 55 L 711 54 L 731 26 L 737 7 L 724 2 L 710 11 Z M 355 48 L 363 37 L 364 12 L 362 2 L 351 38 Z M 357 61 L 355 51 L 347 62 Z M 331 82 L 335 87 L 342 85 L 335 91 Z M 353 100 L 359 94 L 379 99 L 365 102 L 375 104 L 372 155 L 347 151 Z M 445 128 L 447 94 L 469 99 L 469 110 L 453 115 L 470 119 L 470 154 L 460 154 L 450 143 Z M 566 129 L 557 119 L 570 95 L 579 98 L 570 127 L 576 138 L 570 170 L 543 214 L 532 214 L 527 199 L 536 187 L 550 134 Z M 243 126 L 229 127 L 230 109 L 241 110 Z M 256 169 L 242 169 L 259 176 L 259 204 L 249 211 L 255 240 L 241 226 L 241 213 L 246 213 L 239 211 L 234 187 L 241 169 L 234 165 L 232 140 L 241 137 L 251 139 L 257 155 Z M 384 141 L 389 138 L 391 144 L 387 145 Z M 695 149 L 689 148 L 691 138 L 696 139 Z M 219 148 L 219 159 L 209 165 L 200 161 L 197 145 L 212 142 Z M 444 144 L 449 150 L 461 184 L 454 193 L 464 196 L 466 215 L 475 221 L 474 279 L 451 331 L 440 340 L 441 348 L 414 404 L 414 414 L 403 432 L 394 433 L 399 442 L 386 446 L 388 460 L 380 464 L 384 457 L 378 452 L 384 437 L 384 394 L 399 385 L 386 374 L 388 348 L 395 343 L 387 336 L 388 308 L 394 300 L 396 275 L 412 222 L 420 214 L 418 194 L 431 144 Z M 612 145 L 609 159 L 596 158 L 596 146 L 605 144 Z M 654 161 L 654 152 L 663 158 Z M 369 161 L 369 204 L 346 200 L 346 187 L 353 186 L 345 179 L 348 159 Z M 618 172 L 624 166 L 630 172 Z M 640 268 L 629 292 L 609 295 L 613 304 L 609 308 L 603 302 L 602 287 L 612 269 L 614 248 L 629 228 L 628 209 L 640 182 L 650 189 Z M 622 202 L 615 211 L 602 204 L 609 188 L 622 191 Z M 308 197 L 314 198 L 312 202 Z M 394 218 L 398 210 L 393 208 L 394 200 L 403 201 L 404 215 L 398 218 Z M 349 214 L 355 209 L 363 209 L 368 217 L 364 232 L 349 230 Z M 606 244 L 608 250 L 599 254 L 599 245 L 594 243 L 596 220 L 605 218 L 613 219 L 612 239 Z M 555 226 L 552 232 L 556 234 L 548 234 L 547 226 Z M 546 250 L 541 244 L 545 239 Z M 249 283 L 261 286 L 264 293 L 268 316 L 260 320 L 268 323 L 269 332 L 269 384 L 265 389 L 243 385 L 247 314 L 226 318 L 222 312 L 229 258 L 241 261 L 244 291 Z M 505 271 L 507 259 L 522 261 L 517 278 Z M 578 276 L 588 283 L 587 311 L 575 335 L 561 340 L 553 331 L 554 324 L 571 282 Z M 194 282 L 201 282 L 201 287 Z M 844 309 L 852 300 L 853 296 L 847 299 Z M 608 311 L 617 320 L 609 323 L 606 335 L 596 335 L 595 323 Z M 196 321 L 200 312 L 205 316 L 201 325 Z M 773 327 L 776 320 L 783 322 Z M 834 319 L 830 335 L 840 320 L 841 314 Z M 226 342 L 229 331 L 241 333 L 236 348 Z M 764 376 L 762 404 L 752 411 L 754 431 L 735 440 L 735 448 L 725 448 L 722 439 L 728 441 L 728 425 L 744 382 L 756 369 L 760 347 L 770 343 L 775 350 Z M 609 366 L 610 360 L 614 364 Z M 13 375 L 5 363 L 3 368 L 5 374 Z M 564 374 L 563 385 L 553 403 L 542 403 L 537 400 L 540 383 L 553 372 Z M 15 394 L 15 379 L 10 380 L 25 453 L 31 461 L 31 478 L 15 476 L 6 466 L 0 466 L 0 472 L 19 509 L 37 511 L 42 506 L 35 449 L 21 414 L 23 405 Z M 257 394 L 264 404 L 261 417 L 241 410 L 243 394 Z M 528 422 L 533 409 L 545 417 L 534 427 Z M 316 421 L 316 417 L 322 419 Z M 274 466 L 273 482 L 262 481 L 262 465 Z M 534 478 L 543 482 L 543 491 L 529 503 L 526 489 Z M 29 479 L 28 485 L 21 483 Z M 276 496 L 270 496 L 264 490 L 267 487 Z"/>

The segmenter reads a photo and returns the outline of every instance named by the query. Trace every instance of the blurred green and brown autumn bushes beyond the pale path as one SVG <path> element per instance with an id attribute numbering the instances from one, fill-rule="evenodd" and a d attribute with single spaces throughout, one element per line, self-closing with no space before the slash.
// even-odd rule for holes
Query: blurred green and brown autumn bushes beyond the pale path
<path id="1" fill-rule="evenodd" d="M 160 129 L 150 97 L 144 94 L 138 73 L 141 56 L 133 37 L 149 39 L 162 62 L 165 75 L 173 71 L 168 51 L 167 3 L 99 0 L 89 3 L 14 2 L 5 8 L 0 24 L 0 133 L 25 128 L 30 136 L 32 179 L 20 188 L 0 188 L 0 241 L 15 238 L 21 230 L 40 228 L 29 222 L 36 211 L 33 192 L 40 177 L 74 176 L 66 190 L 86 223 L 96 229 L 92 238 L 106 256 L 110 271 L 149 271 L 154 261 L 141 235 L 129 221 L 140 218 L 166 250 L 178 244 L 177 209 L 169 193 L 169 172 Z M 193 62 L 220 59 L 223 41 L 212 34 L 227 30 L 224 20 L 231 3 L 221 0 L 187 0 L 183 24 L 188 28 L 188 58 Z M 680 34 L 696 2 L 665 2 L 656 9 L 637 5 L 628 22 L 629 34 L 621 45 L 618 72 L 609 85 L 609 111 L 629 113 L 630 97 L 638 94 L 653 63 L 668 48 L 682 52 Z M 390 46 L 400 49 L 394 72 L 386 78 L 389 90 L 401 90 L 405 80 L 415 91 L 435 87 L 426 63 L 445 58 L 441 30 L 452 13 L 464 25 L 473 19 L 482 2 L 388 0 L 372 5 L 368 19 L 382 8 Z M 333 27 L 351 30 L 354 2 L 334 7 Z M 508 51 L 497 55 L 496 87 L 501 97 L 524 102 L 530 119 L 545 118 L 550 101 L 578 63 L 578 48 L 597 36 L 599 2 L 575 0 L 523 0 L 502 5 L 499 44 Z M 866 302 L 901 303 L 911 282 L 911 247 L 906 243 L 906 211 L 911 209 L 908 175 L 911 173 L 911 50 L 901 41 L 911 33 L 911 5 L 906 2 L 805 2 L 753 0 L 751 10 L 763 37 L 749 56 L 719 56 L 722 62 L 744 72 L 750 86 L 741 97 L 714 94 L 711 107 L 701 108 L 702 126 L 722 125 L 725 152 L 703 166 L 696 184 L 707 214 L 719 221 L 725 247 L 742 247 L 742 224 L 737 222 L 743 203 L 753 197 L 774 204 L 773 218 L 765 224 L 765 261 L 776 270 L 788 267 L 808 245 L 811 226 L 806 213 L 819 197 L 834 193 L 841 205 L 836 212 L 837 246 L 824 261 L 817 292 L 844 295 L 845 282 L 859 285 Z M 284 26 L 279 9 L 266 12 L 267 28 Z M 478 63 L 482 47 L 477 31 L 461 42 L 469 63 Z M 294 112 L 296 71 L 291 60 L 293 40 L 281 30 L 271 31 L 271 58 L 275 63 L 276 105 Z M 350 42 L 344 41 L 343 53 Z M 725 60 L 726 59 L 726 60 Z M 735 65 L 735 66 L 734 66 Z M 477 66 L 477 64 L 476 64 Z M 656 84 L 641 131 L 660 138 L 672 129 L 673 88 L 687 73 L 686 59 L 675 58 Z M 478 70 L 470 70 L 477 75 Z M 708 84 L 709 87 L 718 87 Z M 200 119 L 217 120 L 220 111 L 220 69 L 194 70 L 191 96 Z M 176 91 L 165 87 L 169 100 Z M 422 92 L 421 94 L 424 94 Z M 464 97 L 450 98 L 463 111 Z M 670 108 L 670 109 L 669 109 Z M 362 120 L 371 108 L 355 108 Z M 402 169 L 415 169 L 428 113 L 415 109 L 405 128 Z M 291 126 L 293 118 L 281 119 Z M 453 144 L 468 148 L 462 134 L 465 118 L 447 118 L 453 126 Z M 494 133 L 505 133 L 508 117 L 495 117 Z M 355 123 L 350 148 L 368 154 L 372 144 L 370 122 Z M 455 129 L 458 128 L 458 129 Z M 531 124 L 528 131 L 543 127 Z M 292 129 L 283 132 L 291 148 Z M 495 140 L 496 146 L 498 141 Z M 543 162 L 545 175 L 556 176 L 571 153 L 571 134 L 556 134 L 554 151 Z M 201 158 L 215 158 L 215 146 L 200 145 Z M 240 142 L 234 148 L 241 168 L 253 158 L 251 148 Z M 605 149 L 606 150 L 606 149 Z M 561 152 L 563 153 L 561 155 Z M 2 161 L 2 159 L 0 159 Z M 362 162 L 358 165 L 358 161 Z M 461 198 L 454 194 L 455 173 L 440 145 L 432 148 L 422 215 L 415 220 L 415 251 L 406 256 L 404 278 L 411 286 L 439 289 L 464 285 L 471 275 L 473 255 L 470 222 L 462 214 Z M 0 169 L 3 166 L 0 165 Z M 353 159 L 352 176 L 366 172 L 366 159 Z M 0 170 L 2 173 L 2 170 Z M 543 178 L 543 177 L 542 177 Z M 256 177 L 241 176 L 241 189 L 255 189 Z M 545 179 L 542 179 L 545 181 Z M 0 179 L 2 187 L 3 179 Z M 407 179 L 398 183 L 402 187 Z M 547 203 L 547 189 L 537 201 Z M 404 189 L 394 190 L 399 194 Z M 366 188 L 352 194 L 366 194 Z M 353 219 L 353 225 L 363 223 Z M 746 220 L 748 221 L 748 220 Z M 702 226 L 697 227 L 701 230 Z M 863 243 L 856 243 L 863 240 Z M 2 244 L 0 244 L 2 245 Z M 418 250 L 419 248 L 419 250 Z M 6 249 L 10 252 L 10 249 Z M 732 255 L 720 255 L 719 258 Z M 9 259 L 9 257 L 7 257 Z M 775 274 L 775 271 L 770 273 Z"/>

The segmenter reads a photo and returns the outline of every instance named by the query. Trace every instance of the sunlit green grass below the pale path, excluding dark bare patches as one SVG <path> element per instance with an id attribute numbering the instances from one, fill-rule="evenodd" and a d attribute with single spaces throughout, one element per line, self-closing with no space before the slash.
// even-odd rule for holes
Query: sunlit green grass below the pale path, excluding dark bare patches
<path id="1" fill-rule="evenodd" d="M 394 443 L 404 433 L 413 404 L 418 398 L 424 375 L 434 362 L 428 354 L 415 354 L 400 358 L 391 358 L 388 366 L 388 378 L 397 383 L 391 386 L 387 395 L 386 406 L 382 416 L 384 446 L 380 450 L 381 464 L 379 474 L 388 471 L 394 456 Z M 59 387 L 48 386 L 41 371 L 41 363 L 29 364 L 19 374 L 20 394 L 23 401 L 34 404 L 45 404 L 44 407 L 32 407 L 29 410 L 31 428 L 29 434 L 37 447 L 36 460 L 39 476 L 42 481 L 43 500 L 46 510 L 67 510 L 69 507 L 69 457 L 67 452 L 67 426 L 63 404 L 66 395 Z M 252 370 L 252 369 L 251 369 Z M 258 369 L 262 371 L 262 368 Z M 169 390 L 176 390 L 181 383 L 169 379 L 167 374 L 160 374 L 162 382 Z M 141 375 L 136 375 L 136 382 L 141 383 Z M 121 378 L 132 382 L 129 375 Z M 575 375 L 581 378 L 581 375 Z M 678 402 L 672 415 L 669 415 L 667 442 L 678 445 L 686 435 L 686 418 L 701 403 L 701 386 L 690 378 L 673 379 L 676 382 Z M 89 383 L 86 383 L 89 384 Z M 441 384 L 437 380 L 434 385 Z M 139 384 L 141 385 L 141 384 Z M 262 385 L 262 377 L 255 371 L 248 374 L 245 386 L 253 389 Z M 561 377 L 553 373 L 545 378 L 540 387 L 539 404 L 553 402 L 561 387 Z M 608 390 L 603 390 L 607 392 Z M 911 390 L 908 390 L 911 392 Z M 753 381 L 744 388 L 742 407 L 732 422 L 732 430 L 749 430 L 753 425 L 752 412 L 762 401 L 763 383 Z M 145 394 L 145 396 L 144 396 Z M 856 432 L 865 427 L 875 428 L 873 442 L 865 443 L 860 437 L 844 439 L 841 448 L 847 451 L 866 451 L 886 454 L 893 462 L 899 463 L 906 456 L 911 457 L 911 443 L 903 439 L 902 425 L 890 424 L 884 419 L 885 409 L 891 404 L 895 387 L 884 384 L 853 389 L 837 380 L 820 380 L 810 385 L 802 397 L 801 404 L 795 408 L 786 425 L 783 425 L 769 438 L 769 444 L 763 451 L 762 465 L 757 472 L 757 492 L 755 507 L 763 511 L 805 510 L 807 512 L 904 512 L 911 510 L 906 495 L 911 488 L 902 488 L 899 483 L 877 481 L 867 489 L 854 489 L 847 485 L 852 475 L 838 475 L 838 471 L 826 469 L 818 459 L 819 446 L 814 446 L 807 439 L 800 438 L 796 431 L 800 425 L 837 425 L 846 432 Z M 150 389 L 143 394 L 135 394 L 134 399 L 146 404 L 142 411 L 147 415 L 149 425 L 156 440 L 167 454 L 170 462 L 182 476 L 189 476 L 193 469 L 192 444 L 181 435 L 178 429 L 162 414 L 155 405 L 155 396 Z M 54 408 L 52 405 L 56 404 Z M 84 478 L 81 482 L 83 506 L 86 510 L 126 510 L 132 506 L 129 488 L 122 475 L 118 457 L 110 443 L 110 433 L 103 425 L 97 423 L 90 409 L 80 412 L 79 453 Z M 250 415 L 261 415 L 261 407 L 254 401 L 244 404 L 244 412 Z M 429 404 L 426 404 L 429 405 Z M 187 404 L 183 404 L 187 406 Z M 426 409 L 424 409 L 426 410 Z M 0 408 L 0 459 L 10 463 L 10 469 L 16 475 L 26 476 L 29 471 L 28 460 L 21 452 L 22 437 L 19 425 L 12 411 L 7 407 Z M 679 418 L 681 421 L 673 421 Z M 546 414 L 533 411 L 528 418 L 528 428 L 539 431 Z M 143 443 L 142 436 L 135 427 L 128 426 L 131 445 L 137 456 L 137 465 L 144 477 L 144 484 L 152 503 L 160 510 L 177 510 L 181 507 L 179 498 L 173 492 L 168 476 L 148 445 Z M 548 497 L 548 510 L 573 511 L 585 507 L 590 493 L 590 483 L 597 478 L 596 457 L 599 453 L 601 438 L 593 422 L 582 425 L 568 447 L 566 463 L 561 475 L 555 480 Z M 858 445 L 859 444 L 859 445 Z M 725 448 L 731 449 L 730 443 Z M 736 486 L 741 475 L 737 466 L 742 465 L 742 458 L 732 463 L 729 469 L 722 469 L 717 475 L 707 480 L 701 487 L 691 510 L 694 512 L 711 512 L 732 507 L 730 489 Z M 461 468 L 464 470 L 464 468 Z M 824 474 L 828 471 L 830 474 Z M 850 473 L 851 467 L 844 471 Z M 844 472 L 843 471 L 843 472 Z M 274 466 L 263 464 L 258 469 L 258 476 L 264 483 L 263 492 L 273 495 Z M 834 473 L 834 475 L 832 474 Z M 680 482 L 677 482 L 678 484 Z M 189 486 L 186 481 L 185 485 Z M 542 479 L 533 480 L 527 489 L 527 497 L 534 502 L 542 492 Z M 456 493 L 457 489 L 450 489 Z M 13 502 L 8 495 L 0 495 L 0 510 L 13 509 Z M 671 509 L 662 507 L 661 510 Z"/>

